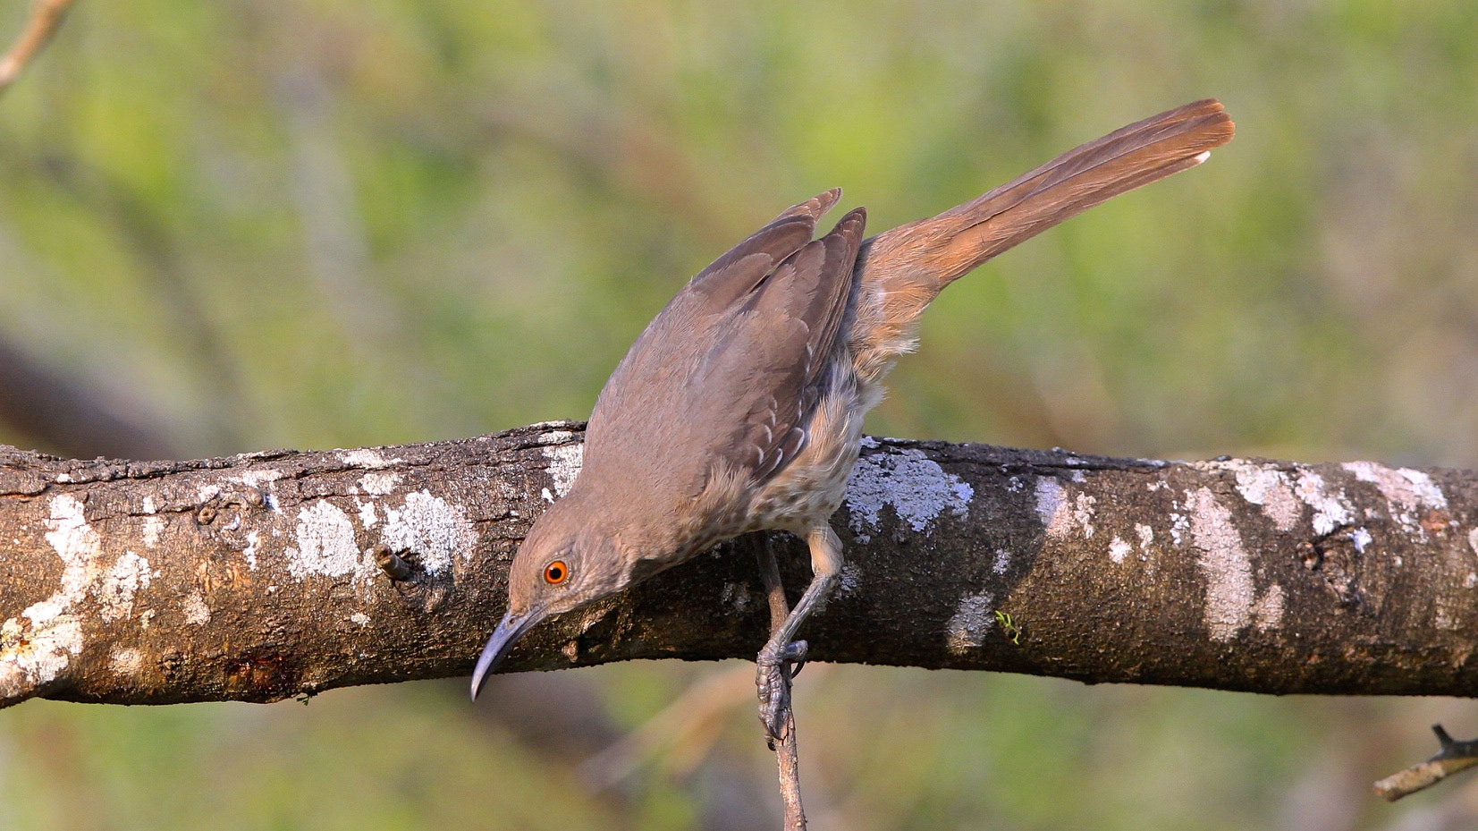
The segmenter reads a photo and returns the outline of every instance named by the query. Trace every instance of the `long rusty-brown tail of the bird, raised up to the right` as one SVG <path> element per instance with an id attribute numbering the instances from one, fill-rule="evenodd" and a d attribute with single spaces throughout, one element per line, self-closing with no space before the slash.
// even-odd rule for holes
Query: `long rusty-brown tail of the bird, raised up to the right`
<path id="1" fill-rule="evenodd" d="M 946 285 L 1104 200 L 1196 167 L 1231 135 L 1219 102 L 1187 104 L 1067 151 L 933 219 L 865 241 L 851 328 L 863 380 L 879 381 L 893 359 L 912 349 L 918 316 Z"/>

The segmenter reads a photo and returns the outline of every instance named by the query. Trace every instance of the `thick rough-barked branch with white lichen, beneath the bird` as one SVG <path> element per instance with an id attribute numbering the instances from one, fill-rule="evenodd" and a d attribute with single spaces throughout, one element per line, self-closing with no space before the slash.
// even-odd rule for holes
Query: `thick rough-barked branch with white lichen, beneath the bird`
<path id="1" fill-rule="evenodd" d="M 466 674 L 579 439 L 550 423 L 182 463 L 0 447 L 0 704 Z M 848 560 L 807 624 L 813 661 L 1478 693 L 1475 473 L 868 439 L 834 525 Z M 780 550 L 804 587 L 803 547 Z M 507 670 L 751 658 L 766 621 L 754 559 L 720 547 L 531 633 Z"/>

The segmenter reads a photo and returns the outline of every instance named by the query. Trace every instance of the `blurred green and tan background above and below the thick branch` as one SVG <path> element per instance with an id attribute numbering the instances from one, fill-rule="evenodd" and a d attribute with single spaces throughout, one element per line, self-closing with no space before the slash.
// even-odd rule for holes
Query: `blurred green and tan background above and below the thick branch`
<path id="1" fill-rule="evenodd" d="M 869 430 L 1475 467 L 1475 33 L 1469 0 L 83 0 L 0 98 L 0 441 L 584 417 L 785 206 L 844 185 L 888 228 L 1215 95 L 1227 149 L 944 293 Z M 35 701 L 0 713 L 0 828 L 774 828 L 749 685 L 644 662 L 477 707 L 460 680 Z M 798 719 L 816 831 L 1478 825 L 1471 781 L 1369 794 L 1429 723 L 1478 733 L 1466 701 L 816 665 Z"/>

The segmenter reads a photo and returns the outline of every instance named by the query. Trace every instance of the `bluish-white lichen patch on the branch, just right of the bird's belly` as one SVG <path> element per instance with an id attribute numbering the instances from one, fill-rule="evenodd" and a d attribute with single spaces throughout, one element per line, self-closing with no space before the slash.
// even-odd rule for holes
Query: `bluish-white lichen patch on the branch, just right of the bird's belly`
<path id="1" fill-rule="evenodd" d="M 944 515 L 964 516 L 975 489 L 919 450 L 872 454 L 857 461 L 847 482 L 847 512 L 857 540 L 876 531 L 882 509 L 891 506 L 913 531 L 924 531 Z"/>

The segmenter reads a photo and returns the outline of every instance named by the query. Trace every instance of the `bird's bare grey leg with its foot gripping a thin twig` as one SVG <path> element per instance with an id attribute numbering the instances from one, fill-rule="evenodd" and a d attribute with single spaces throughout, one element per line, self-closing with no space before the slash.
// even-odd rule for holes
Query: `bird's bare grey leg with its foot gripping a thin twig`
<path id="1" fill-rule="evenodd" d="M 811 584 L 806 587 L 801 600 L 795 603 L 785 620 L 773 627 L 770 642 L 764 645 L 755 658 L 755 688 L 760 692 L 760 722 L 773 747 L 776 739 L 782 739 L 783 713 L 789 707 L 791 670 L 789 664 L 800 664 L 806 659 L 806 642 L 795 640 L 797 630 L 816 606 L 831 594 L 837 578 L 841 574 L 841 540 L 831 526 L 822 525 L 806 535 L 806 543 L 811 549 Z M 774 586 L 767 575 L 767 589 L 773 593 L 779 589 L 779 575 Z M 783 597 L 783 594 L 782 594 Z M 773 609 L 773 606 L 772 606 Z"/>

